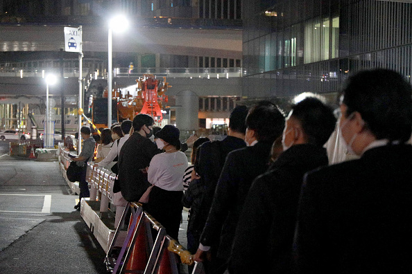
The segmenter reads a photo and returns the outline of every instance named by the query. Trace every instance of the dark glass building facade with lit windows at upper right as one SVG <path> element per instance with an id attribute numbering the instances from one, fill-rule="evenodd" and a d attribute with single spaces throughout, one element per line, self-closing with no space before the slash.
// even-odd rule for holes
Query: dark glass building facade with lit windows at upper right
<path id="1" fill-rule="evenodd" d="M 412 3 L 243 2 L 243 97 L 334 93 L 355 71 L 412 74 Z"/>

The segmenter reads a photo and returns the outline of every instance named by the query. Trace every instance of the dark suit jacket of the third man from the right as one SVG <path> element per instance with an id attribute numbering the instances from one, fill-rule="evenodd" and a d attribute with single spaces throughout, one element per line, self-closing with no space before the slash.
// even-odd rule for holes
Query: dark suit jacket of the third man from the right
<path id="1" fill-rule="evenodd" d="M 214 192 L 200 243 L 211 246 L 221 233 L 217 256 L 228 259 L 234 230 L 252 181 L 268 169 L 272 142 L 258 142 L 230 152 Z"/>

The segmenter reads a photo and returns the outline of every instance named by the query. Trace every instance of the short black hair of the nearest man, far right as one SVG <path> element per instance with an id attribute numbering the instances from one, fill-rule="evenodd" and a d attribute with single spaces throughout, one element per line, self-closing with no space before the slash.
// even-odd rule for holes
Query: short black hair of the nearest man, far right
<path id="1" fill-rule="evenodd" d="M 412 131 L 412 87 L 395 71 L 375 69 L 349 77 L 342 92 L 346 116 L 361 113 L 379 139 L 406 142 Z"/>

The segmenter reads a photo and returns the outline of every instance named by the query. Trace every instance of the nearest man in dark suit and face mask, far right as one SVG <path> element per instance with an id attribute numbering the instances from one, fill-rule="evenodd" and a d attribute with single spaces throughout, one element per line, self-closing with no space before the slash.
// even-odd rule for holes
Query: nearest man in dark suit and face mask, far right
<path id="1" fill-rule="evenodd" d="M 296 231 L 298 273 L 412 273 L 411 84 L 362 71 L 341 96 L 341 135 L 361 156 L 307 174 Z"/>

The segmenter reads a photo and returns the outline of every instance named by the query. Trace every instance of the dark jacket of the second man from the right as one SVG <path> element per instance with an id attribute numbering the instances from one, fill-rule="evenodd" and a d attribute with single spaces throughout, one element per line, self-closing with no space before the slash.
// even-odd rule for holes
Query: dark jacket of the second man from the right
<path id="1" fill-rule="evenodd" d="M 237 224 L 230 273 L 290 273 L 303 175 L 327 163 L 323 147 L 293 145 L 255 179 Z"/>

